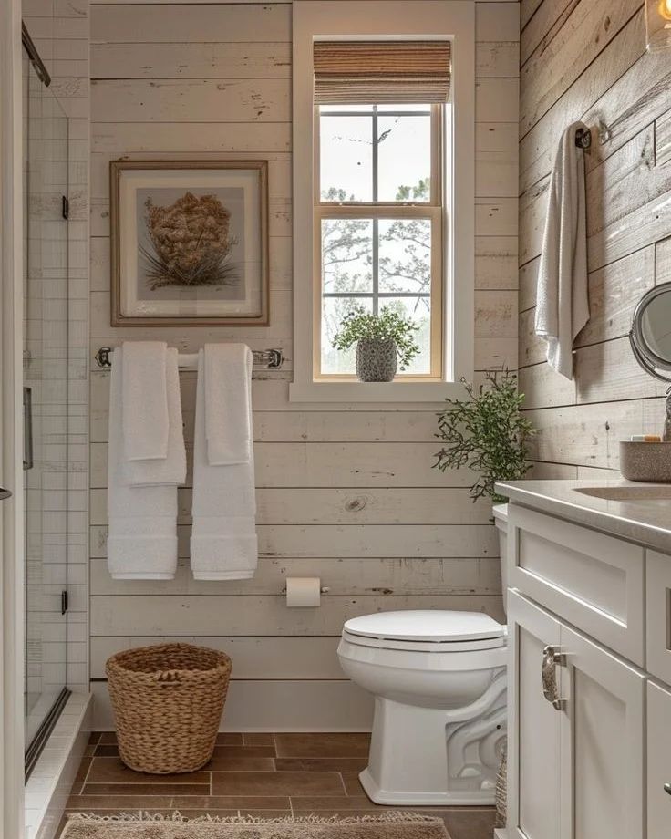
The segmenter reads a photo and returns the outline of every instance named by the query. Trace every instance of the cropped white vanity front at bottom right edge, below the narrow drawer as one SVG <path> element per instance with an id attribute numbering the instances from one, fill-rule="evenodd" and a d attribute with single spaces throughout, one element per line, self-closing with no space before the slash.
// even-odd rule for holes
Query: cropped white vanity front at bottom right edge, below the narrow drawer
<path id="1" fill-rule="evenodd" d="M 671 795 L 667 784 L 671 784 L 671 693 L 648 682 L 647 839 L 668 839 Z"/>

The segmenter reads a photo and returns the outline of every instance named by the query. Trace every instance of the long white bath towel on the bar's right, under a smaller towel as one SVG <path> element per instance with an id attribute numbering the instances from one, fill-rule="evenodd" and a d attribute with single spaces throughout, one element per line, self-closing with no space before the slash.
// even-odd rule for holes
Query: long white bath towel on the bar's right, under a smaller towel
<path id="1" fill-rule="evenodd" d="M 245 347 L 246 348 L 246 347 Z M 249 353 L 249 349 L 247 349 Z M 227 412 L 237 406 L 239 417 L 231 421 L 236 429 L 247 422 L 252 437 L 252 375 L 247 353 L 238 353 L 236 363 L 243 372 L 219 365 L 204 375 L 205 353 L 198 356 L 196 420 L 193 445 L 193 530 L 191 534 L 191 571 L 197 580 L 246 580 L 256 570 L 258 544 L 254 516 L 253 445 L 245 462 L 212 465 L 206 439 L 206 415 L 212 405 L 208 385 L 212 377 L 231 377 L 239 383 L 239 392 L 231 393 Z M 216 393 L 222 393 L 222 384 Z M 246 417 L 247 420 L 243 420 Z M 212 416 L 211 416 L 211 419 Z"/>

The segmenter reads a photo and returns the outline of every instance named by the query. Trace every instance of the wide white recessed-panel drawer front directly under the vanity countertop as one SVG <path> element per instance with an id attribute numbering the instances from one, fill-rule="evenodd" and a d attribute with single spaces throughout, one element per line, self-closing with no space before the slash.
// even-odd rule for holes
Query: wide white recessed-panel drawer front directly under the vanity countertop
<path id="1" fill-rule="evenodd" d="M 643 666 L 644 549 L 511 504 L 511 588 Z"/>

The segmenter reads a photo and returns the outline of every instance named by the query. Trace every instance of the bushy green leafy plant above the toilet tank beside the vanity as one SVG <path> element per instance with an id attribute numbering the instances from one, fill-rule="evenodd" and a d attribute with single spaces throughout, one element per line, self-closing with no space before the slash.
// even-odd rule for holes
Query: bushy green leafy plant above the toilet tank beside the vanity
<path id="1" fill-rule="evenodd" d="M 449 408 L 439 413 L 436 437 L 446 444 L 436 453 L 434 468 L 466 466 L 477 471 L 480 477 L 470 487 L 473 501 L 489 496 L 495 503 L 505 502 L 494 484 L 519 481 L 531 466 L 528 441 L 536 430 L 521 415 L 524 394 L 508 370 L 488 373 L 486 385 L 477 392 L 464 378 L 461 381 L 469 399 L 447 399 Z"/>

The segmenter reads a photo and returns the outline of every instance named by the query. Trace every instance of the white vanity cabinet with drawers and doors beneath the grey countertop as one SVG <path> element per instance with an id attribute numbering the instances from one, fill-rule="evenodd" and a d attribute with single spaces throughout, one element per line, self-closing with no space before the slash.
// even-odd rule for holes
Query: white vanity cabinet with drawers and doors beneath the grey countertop
<path id="1" fill-rule="evenodd" d="M 508 544 L 508 839 L 669 839 L 671 556 L 515 505 Z"/>

